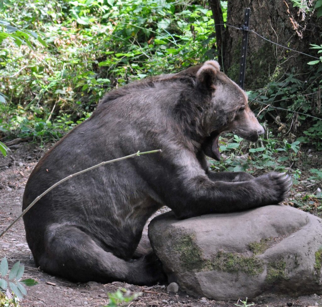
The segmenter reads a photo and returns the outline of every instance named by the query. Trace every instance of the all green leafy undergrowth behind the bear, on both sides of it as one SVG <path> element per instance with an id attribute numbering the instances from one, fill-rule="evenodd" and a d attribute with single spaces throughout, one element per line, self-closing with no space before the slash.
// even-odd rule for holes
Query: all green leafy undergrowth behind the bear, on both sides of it
<path id="1" fill-rule="evenodd" d="M 227 2 L 221 3 L 226 21 Z M 217 56 L 206 2 L 5 0 L 0 21 L 5 22 L 0 33 L 8 32 L 10 23 L 10 29 L 24 34 L 12 33 L 29 35 L 20 48 L 14 35 L 0 37 L 0 93 L 6 100 L 0 102 L 2 142 L 14 137 L 57 141 L 91 115 L 106 91 Z M 322 52 L 322 46 L 312 48 L 317 56 Z M 266 135 L 257 144 L 223 137 L 223 159 L 212 162 L 213 169 L 254 175 L 286 171 L 295 185 L 303 177 L 322 181 L 320 164 L 302 163 L 307 148 L 322 150 L 322 64 L 309 64 L 303 64 L 305 75 L 276 67 L 270 83 L 248 92 Z M 0 150 L 5 153 L 1 143 Z M 317 203 L 316 195 L 314 200 L 307 195 L 294 205 Z"/>

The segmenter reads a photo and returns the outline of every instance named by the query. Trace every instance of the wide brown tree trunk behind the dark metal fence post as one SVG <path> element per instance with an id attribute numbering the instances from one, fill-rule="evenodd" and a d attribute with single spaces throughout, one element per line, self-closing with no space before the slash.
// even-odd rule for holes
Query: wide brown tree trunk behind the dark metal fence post
<path id="1" fill-rule="evenodd" d="M 251 8 L 250 30 L 270 41 L 317 56 L 310 50 L 311 44 L 321 44 L 321 20 L 314 13 L 298 14 L 289 0 L 228 0 L 227 26 L 224 38 L 225 58 L 223 70 L 238 83 L 241 58 L 244 9 Z M 305 18 L 303 18 L 305 17 Z M 303 20 L 302 20 L 303 19 Z M 308 70 L 308 56 L 265 41 L 253 32 L 249 33 L 245 89 L 262 88 L 272 80 L 282 77 L 286 71 L 303 73 Z"/>

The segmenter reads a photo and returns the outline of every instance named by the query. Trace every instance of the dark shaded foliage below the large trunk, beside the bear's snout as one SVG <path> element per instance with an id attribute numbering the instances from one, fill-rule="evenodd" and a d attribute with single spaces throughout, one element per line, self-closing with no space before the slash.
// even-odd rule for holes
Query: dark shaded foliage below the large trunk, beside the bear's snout
<path id="1" fill-rule="evenodd" d="M 283 81 L 272 81 L 263 89 L 248 92 L 250 105 L 255 113 L 259 112 L 261 121 L 275 118 L 282 137 L 296 139 L 294 133 L 302 130 L 304 135 L 298 140 L 322 150 L 321 74 L 322 64 L 309 67 L 305 80 L 294 73 L 285 73 Z"/>

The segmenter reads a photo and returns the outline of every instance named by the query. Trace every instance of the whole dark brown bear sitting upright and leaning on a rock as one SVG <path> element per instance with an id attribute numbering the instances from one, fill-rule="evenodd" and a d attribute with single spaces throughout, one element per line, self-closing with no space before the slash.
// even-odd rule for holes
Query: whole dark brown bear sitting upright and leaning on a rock
<path id="1" fill-rule="evenodd" d="M 23 209 L 70 174 L 137 151 L 161 152 L 100 166 L 40 199 L 24 215 L 35 264 L 76 282 L 164 282 L 162 264 L 142 235 L 160 207 L 186 219 L 282 201 L 291 185 L 284 173 L 209 169 L 206 156 L 220 160 L 222 132 L 253 142 L 264 133 L 247 102 L 213 60 L 107 93 L 35 166 Z"/>

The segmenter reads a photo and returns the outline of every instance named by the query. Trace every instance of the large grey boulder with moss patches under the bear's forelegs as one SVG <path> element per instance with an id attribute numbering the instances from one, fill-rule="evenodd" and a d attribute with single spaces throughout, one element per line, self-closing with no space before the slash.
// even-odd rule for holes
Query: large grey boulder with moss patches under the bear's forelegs
<path id="1" fill-rule="evenodd" d="M 185 220 L 170 211 L 151 221 L 149 238 L 169 282 L 188 294 L 322 294 L 321 222 L 282 205 Z"/>

